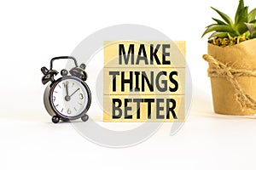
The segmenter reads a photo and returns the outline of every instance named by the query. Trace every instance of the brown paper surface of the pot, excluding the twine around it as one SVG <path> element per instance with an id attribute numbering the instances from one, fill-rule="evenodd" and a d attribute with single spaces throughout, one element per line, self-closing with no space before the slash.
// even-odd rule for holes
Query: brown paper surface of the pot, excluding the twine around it
<path id="1" fill-rule="evenodd" d="M 208 43 L 208 54 L 224 65 L 234 69 L 256 70 L 256 39 L 247 40 L 234 46 L 218 47 Z M 214 69 L 209 64 L 209 69 Z M 256 77 L 235 77 L 242 90 L 256 99 Z M 250 116 L 256 112 L 242 109 L 236 99 L 236 90 L 226 77 L 211 77 L 214 111 L 219 114 Z"/>

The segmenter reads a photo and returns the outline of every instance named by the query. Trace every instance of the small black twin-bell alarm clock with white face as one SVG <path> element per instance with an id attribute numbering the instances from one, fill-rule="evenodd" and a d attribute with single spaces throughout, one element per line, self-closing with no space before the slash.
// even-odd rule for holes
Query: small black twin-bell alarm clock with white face
<path id="1" fill-rule="evenodd" d="M 73 59 L 75 67 L 70 71 L 61 70 L 61 77 L 55 80 L 58 71 L 53 70 L 53 62 L 56 59 Z M 84 70 L 85 65 L 78 65 L 72 56 L 55 57 L 50 60 L 49 70 L 45 66 L 41 68 L 44 74 L 42 83 L 50 82 L 44 91 L 44 106 L 52 116 L 52 122 L 67 122 L 79 118 L 86 122 L 89 119 L 86 113 L 90 108 L 91 94 L 85 83 L 87 74 Z"/>

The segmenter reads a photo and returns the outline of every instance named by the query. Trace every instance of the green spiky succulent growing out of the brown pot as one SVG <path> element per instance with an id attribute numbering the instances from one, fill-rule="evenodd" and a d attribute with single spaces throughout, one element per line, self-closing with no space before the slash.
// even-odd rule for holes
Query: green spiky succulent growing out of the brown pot
<path id="1" fill-rule="evenodd" d="M 212 7 L 211 7 L 212 8 Z M 209 42 L 219 46 L 236 44 L 248 39 L 256 37 L 256 8 L 248 13 L 248 7 L 244 6 L 244 1 L 240 0 L 235 21 L 231 20 L 227 14 L 212 8 L 223 20 L 212 18 L 216 23 L 207 26 L 207 30 L 203 33 L 204 37 L 207 33 L 212 32 Z"/>

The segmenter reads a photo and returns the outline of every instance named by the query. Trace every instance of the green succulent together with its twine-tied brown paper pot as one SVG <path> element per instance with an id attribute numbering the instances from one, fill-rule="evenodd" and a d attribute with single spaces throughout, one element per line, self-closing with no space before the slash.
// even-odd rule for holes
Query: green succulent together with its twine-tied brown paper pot
<path id="1" fill-rule="evenodd" d="M 212 8 L 222 20 L 207 26 L 203 33 L 212 32 L 208 53 L 214 111 L 226 115 L 256 113 L 256 8 L 248 12 L 239 1 L 235 20 Z"/>

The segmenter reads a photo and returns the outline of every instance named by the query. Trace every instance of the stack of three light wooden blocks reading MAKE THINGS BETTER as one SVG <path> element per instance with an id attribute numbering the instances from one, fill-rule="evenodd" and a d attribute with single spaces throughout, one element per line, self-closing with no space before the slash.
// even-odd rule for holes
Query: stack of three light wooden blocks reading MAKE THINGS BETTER
<path id="1" fill-rule="evenodd" d="M 183 122 L 185 42 L 104 42 L 104 122 Z"/>

